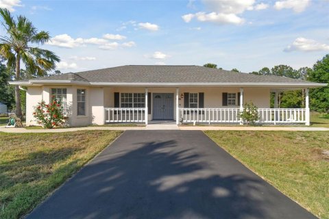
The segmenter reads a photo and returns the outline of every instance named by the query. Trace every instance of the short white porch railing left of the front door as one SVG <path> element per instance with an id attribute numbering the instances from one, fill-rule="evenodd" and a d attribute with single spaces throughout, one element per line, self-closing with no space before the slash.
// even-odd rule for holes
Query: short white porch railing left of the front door
<path id="1" fill-rule="evenodd" d="M 145 108 L 104 108 L 105 123 L 145 123 Z"/>

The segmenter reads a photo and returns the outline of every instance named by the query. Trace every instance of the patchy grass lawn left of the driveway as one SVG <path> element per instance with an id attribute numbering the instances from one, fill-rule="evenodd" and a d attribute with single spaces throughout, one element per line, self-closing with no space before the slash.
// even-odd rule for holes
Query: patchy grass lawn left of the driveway
<path id="1" fill-rule="evenodd" d="M 121 131 L 0 132 L 0 218 L 21 218 Z"/>

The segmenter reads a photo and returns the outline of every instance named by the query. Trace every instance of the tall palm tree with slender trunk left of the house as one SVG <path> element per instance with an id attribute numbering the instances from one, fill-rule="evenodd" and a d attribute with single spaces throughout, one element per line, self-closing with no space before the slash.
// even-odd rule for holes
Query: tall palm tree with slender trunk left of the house
<path id="1" fill-rule="evenodd" d="M 5 36 L 0 36 L 0 55 L 7 61 L 8 68 L 15 69 L 16 81 L 20 79 L 21 62 L 27 72 L 38 76 L 56 67 L 60 58 L 49 50 L 37 47 L 50 40 L 48 32 L 38 31 L 25 16 L 17 16 L 15 20 L 7 9 L 0 9 L 0 15 L 7 31 Z M 15 86 L 15 101 L 16 116 L 22 118 L 19 86 Z"/>

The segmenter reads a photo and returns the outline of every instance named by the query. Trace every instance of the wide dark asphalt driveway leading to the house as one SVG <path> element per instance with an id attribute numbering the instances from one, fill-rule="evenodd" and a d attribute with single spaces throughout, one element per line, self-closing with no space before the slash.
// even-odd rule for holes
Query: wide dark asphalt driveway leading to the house
<path id="1" fill-rule="evenodd" d="M 315 216 L 202 131 L 125 131 L 27 218 Z"/>

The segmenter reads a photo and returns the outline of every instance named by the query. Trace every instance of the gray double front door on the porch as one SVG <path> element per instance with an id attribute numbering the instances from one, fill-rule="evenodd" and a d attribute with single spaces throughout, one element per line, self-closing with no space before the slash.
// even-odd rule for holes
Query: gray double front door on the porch
<path id="1" fill-rule="evenodd" d="M 153 94 L 153 119 L 173 119 L 173 94 Z"/>

